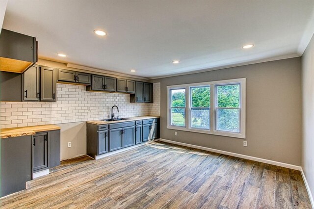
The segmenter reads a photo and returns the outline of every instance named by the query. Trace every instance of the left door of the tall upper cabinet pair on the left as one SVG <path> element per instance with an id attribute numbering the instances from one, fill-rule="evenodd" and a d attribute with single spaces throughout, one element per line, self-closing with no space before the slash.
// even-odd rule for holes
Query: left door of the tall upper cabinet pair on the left
<path id="1" fill-rule="evenodd" d="M 24 100 L 38 101 L 39 98 L 39 67 L 31 66 L 23 74 L 24 81 Z"/>

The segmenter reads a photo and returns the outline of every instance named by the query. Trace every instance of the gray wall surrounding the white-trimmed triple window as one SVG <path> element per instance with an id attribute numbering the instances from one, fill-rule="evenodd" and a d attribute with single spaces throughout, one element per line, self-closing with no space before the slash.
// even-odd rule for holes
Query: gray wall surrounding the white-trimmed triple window
<path id="1" fill-rule="evenodd" d="M 246 140 L 166 128 L 166 86 L 246 78 Z M 160 82 L 160 138 L 301 165 L 301 58 L 154 79 Z"/>

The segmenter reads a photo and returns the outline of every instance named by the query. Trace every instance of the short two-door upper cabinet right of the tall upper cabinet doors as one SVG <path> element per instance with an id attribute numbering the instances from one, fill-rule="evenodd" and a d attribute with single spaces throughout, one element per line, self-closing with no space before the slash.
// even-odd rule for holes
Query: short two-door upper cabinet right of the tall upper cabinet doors
<path id="1" fill-rule="evenodd" d="M 90 84 L 90 74 L 72 70 L 58 69 L 58 81 Z"/>

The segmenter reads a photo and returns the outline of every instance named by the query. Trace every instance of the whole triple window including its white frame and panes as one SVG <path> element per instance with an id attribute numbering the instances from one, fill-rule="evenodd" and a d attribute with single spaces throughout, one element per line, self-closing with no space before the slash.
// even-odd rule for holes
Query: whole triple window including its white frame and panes
<path id="1" fill-rule="evenodd" d="M 245 78 L 167 86 L 167 128 L 245 138 Z"/>

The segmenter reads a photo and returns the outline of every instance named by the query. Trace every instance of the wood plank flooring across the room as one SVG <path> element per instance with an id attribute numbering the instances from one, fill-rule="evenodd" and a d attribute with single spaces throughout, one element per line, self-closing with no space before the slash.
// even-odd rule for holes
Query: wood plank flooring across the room
<path id="1" fill-rule="evenodd" d="M 63 161 L 0 208 L 311 209 L 299 171 L 153 142 Z"/>

